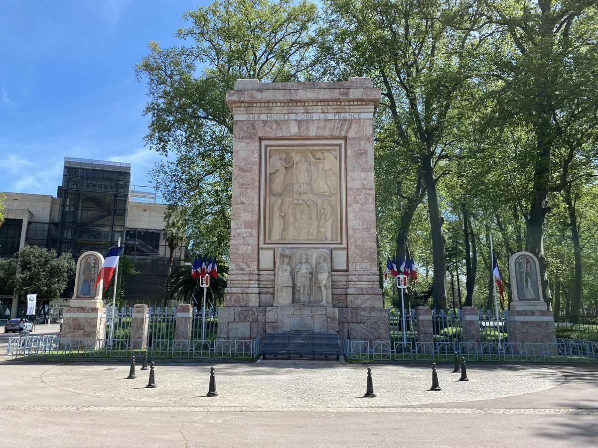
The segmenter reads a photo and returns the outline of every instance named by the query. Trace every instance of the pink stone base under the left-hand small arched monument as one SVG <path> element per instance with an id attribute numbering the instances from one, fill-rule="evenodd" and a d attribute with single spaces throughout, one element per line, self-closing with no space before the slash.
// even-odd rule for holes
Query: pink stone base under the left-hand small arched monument
<path id="1" fill-rule="evenodd" d="M 86 340 L 88 345 L 97 339 L 104 339 L 106 320 L 103 318 L 105 308 L 77 306 L 65 308 L 60 340 Z"/>

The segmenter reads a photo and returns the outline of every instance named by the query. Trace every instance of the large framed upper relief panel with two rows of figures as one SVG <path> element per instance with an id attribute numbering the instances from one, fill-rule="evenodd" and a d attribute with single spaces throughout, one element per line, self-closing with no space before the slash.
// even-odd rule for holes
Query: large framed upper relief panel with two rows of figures
<path id="1" fill-rule="evenodd" d="M 267 154 L 266 243 L 340 242 L 338 149 Z"/>

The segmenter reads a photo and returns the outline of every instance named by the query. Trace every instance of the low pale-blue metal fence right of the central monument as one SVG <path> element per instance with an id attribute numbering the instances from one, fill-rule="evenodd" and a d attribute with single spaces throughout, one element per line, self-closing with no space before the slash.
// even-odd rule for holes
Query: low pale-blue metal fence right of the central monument
<path id="1" fill-rule="evenodd" d="M 556 343 L 416 342 L 343 339 L 343 354 L 352 361 L 451 361 L 454 352 L 470 361 L 596 363 L 598 342 L 557 339 Z"/>

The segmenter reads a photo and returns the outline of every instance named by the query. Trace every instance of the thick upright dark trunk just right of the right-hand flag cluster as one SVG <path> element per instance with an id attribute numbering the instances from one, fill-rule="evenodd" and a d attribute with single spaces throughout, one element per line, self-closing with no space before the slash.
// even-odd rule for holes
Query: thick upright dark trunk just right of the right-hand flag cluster
<path id="1" fill-rule="evenodd" d="M 434 179 L 434 166 L 431 153 L 426 154 L 422 161 L 422 179 L 428 195 L 428 214 L 432 237 L 432 257 L 434 262 L 434 278 L 432 280 L 432 297 L 435 309 L 446 309 L 446 275 L 447 261 L 444 253 L 443 217 L 438 205 L 438 191 Z"/>

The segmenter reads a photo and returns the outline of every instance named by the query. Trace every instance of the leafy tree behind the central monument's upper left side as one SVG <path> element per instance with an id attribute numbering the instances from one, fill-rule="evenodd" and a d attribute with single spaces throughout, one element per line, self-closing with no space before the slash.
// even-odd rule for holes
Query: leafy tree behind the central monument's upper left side
<path id="1" fill-rule="evenodd" d="M 149 43 L 136 65 L 148 85 L 145 142 L 174 155 L 152 171 L 169 205 L 184 207 L 192 247 L 223 259 L 230 244 L 233 117 L 225 93 L 239 78 L 307 79 L 316 6 L 308 1 L 221 0 L 187 11 L 172 48 Z"/>

